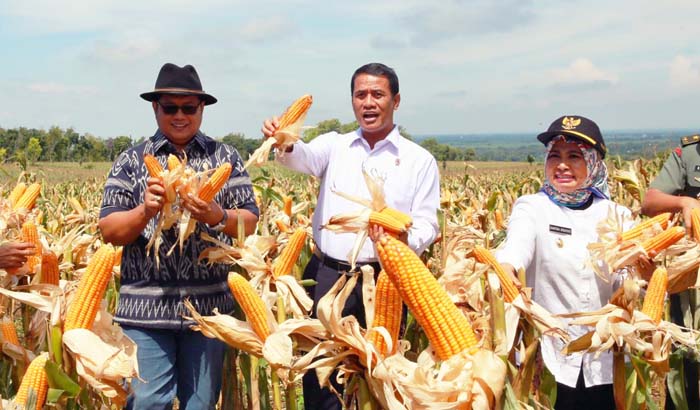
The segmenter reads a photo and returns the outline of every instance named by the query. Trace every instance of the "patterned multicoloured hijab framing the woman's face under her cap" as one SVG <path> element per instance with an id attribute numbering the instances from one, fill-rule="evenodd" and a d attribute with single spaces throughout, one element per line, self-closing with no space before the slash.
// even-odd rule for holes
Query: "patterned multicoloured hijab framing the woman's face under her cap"
<path id="1" fill-rule="evenodd" d="M 578 139 L 567 137 L 564 135 L 557 135 L 552 138 L 547 143 L 547 148 L 545 152 L 545 164 L 547 158 L 549 157 L 549 152 L 557 141 L 573 142 L 578 146 L 578 148 L 583 153 L 583 158 L 586 161 L 586 180 L 583 182 L 581 188 L 574 192 L 559 192 L 552 185 L 547 177 L 547 172 L 545 171 L 545 181 L 544 186 L 542 186 L 541 191 L 547 194 L 549 199 L 554 203 L 566 206 L 569 208 L 577 208 L 585 204 L 591 197 L 597 196 L 602 199 L 610 199 L 610 190 L 608 188 L 608 167 L 605 162 L 600 158 L 598 151 L 588 144 L 584 144 Z"/>

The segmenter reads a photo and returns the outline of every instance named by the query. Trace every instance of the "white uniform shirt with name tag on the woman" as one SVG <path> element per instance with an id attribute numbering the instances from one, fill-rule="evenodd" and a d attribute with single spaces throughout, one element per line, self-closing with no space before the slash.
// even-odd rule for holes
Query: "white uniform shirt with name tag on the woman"
<path id="1" fill-rule="evenodd" d="M 596 225 L 611 207 L 623 215 L 624 229 L 631 224 L 630 211 L 612 201 L 595 198 L 586 209 L 559 206 L 540 192 L 520 197 L 508 221 L 505 244 L 496 252 L 501 263 L 525 268 L 532 297 L 553 314 L 590 312 L 604 306 L 613 292 L 613 280 L 605 282 L 590 266 L 589 243 L 597 242 Z M 607 269 L 607 267 L 604 267 Z M 591 331 L 569 326 L 574 340 Z M 576 387 L 583 366 L 586 387 L 612 383 L 612 355 L 598 359 L 591 353 L 562 355 L 564 343 L 542 338 L 542 358 L 557 382 Z"/>

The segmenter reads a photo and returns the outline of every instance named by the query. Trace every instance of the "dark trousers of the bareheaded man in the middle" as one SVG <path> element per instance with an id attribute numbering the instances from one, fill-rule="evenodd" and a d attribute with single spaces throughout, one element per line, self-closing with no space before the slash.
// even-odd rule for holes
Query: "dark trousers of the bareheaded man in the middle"
<path id="1" fill-rule="evenodd" d="M 328 266 L 331 265 L 331 266 Z M 316 307 L 318 301 L 335 285 L 335 282 L 344 275 L 344 272 L 338 270 L 337 263 L 321 263 L 321 260 L 316 256 L 311 256 L 309 263 L 304 270 L 304 279 L 314 279 L 317 283 L 315 286 L 308 288 L 309 295 L 314 300 L 314 307 L 311 311 L 312 317 L 316 316 Z M 334 269 L 335 268 L 335 269 Z M 374 265 L 375 275 L 379 274 L 377 265 Z M 360 322 L 360 326 L 367 327 L 365 318 L 365 308 L 362 303 L 362 281 L 358 281 L 352 293 L 345 302 L 343 308 L 343 316 L 353 315 Z M 343 386 L 335 382 L 335 373 L 331 376 L 331 384 L 336 391 L 342 395 Z M 343 406 L 338 400 L 338 397 L 330 389 L 321 388 L 316 377 L 316 371 L 311 370 L 306 372 L 303 377 L 304 387 L 304 408 L 307 410 L 335 410 L 342 409 Z"/>

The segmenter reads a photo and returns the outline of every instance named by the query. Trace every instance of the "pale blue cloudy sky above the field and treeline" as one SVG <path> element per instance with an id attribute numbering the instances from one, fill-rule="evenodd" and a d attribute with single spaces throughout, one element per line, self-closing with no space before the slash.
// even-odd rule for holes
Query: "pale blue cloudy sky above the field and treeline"
<path id="1" fill-rule="evenodd" d="M 310 93 L 307 125 L 353 120 L 349 80 L 399 75 L 412 134 L 700 128 L 700 2 L 0 0 L 0 127 L 151 135 L 139 94 L 193 64 L 202 129 L 258 137 Z"/>

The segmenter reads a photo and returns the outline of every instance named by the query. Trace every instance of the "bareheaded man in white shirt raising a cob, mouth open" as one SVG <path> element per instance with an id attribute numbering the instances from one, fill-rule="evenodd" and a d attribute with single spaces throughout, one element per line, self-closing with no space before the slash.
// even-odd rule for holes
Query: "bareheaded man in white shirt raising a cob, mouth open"
<path id="1" fill-rule="evenodd" d="M 330 132 L 305 144 L 295 143 L 277 161 L 284 166 L 321 178 L 318 202 L 313 215 L 316 252 L 304 271 L 304 278 L 315 279 L 309 288 L 314 299 L 313 315 L 319 299 L 340 275 L 354 272 L 348 254 L 355 234 L 321 230 L 334 215 L 356 211 L 359 205 L 332 192 L 344 192 L 369 199 L 362 171 L 384 179 L 387 205 L 413 218 L 413 226 L 402 239 L 420 255 L 437 237 L 437 210 L 440 206 L 439 173 L 435 158 L 418 144 L 402 137 L 394 124 L 399 108 L 399 80 L 393 69 L 380 63 L 358 68 L 350 82 L 352 108 L 359 129 L 347 134 Z M 265 120 L 266 138 L 277 130 L 277 118 Z M 358 256 L 358 267 L 372 264 L 379 273 L 376 250 L 366 241 Z M 356 269 L 357 270 L 357 269 Z M 343 310 L 365 326 L 362 287 L 358 283 Z M 341 386 L 334 384 L 336 389 Z M 338 390 L 342 392 L 342 390 Z M 304 376 L 304 403 L 307 409 L 340 409 L 341 403 L 329 389 L 320 389 L 315 372 Z"/>

